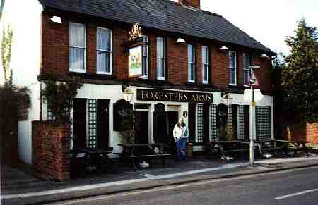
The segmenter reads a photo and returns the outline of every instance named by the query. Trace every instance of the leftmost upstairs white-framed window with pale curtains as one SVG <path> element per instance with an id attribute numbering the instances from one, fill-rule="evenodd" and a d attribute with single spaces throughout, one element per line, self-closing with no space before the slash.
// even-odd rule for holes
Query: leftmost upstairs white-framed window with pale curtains
<path id="1" fill-rule="evenodd" d="M 69 23 L 69 70 L 86 72 L 86 27 L 81 23 Z"/>

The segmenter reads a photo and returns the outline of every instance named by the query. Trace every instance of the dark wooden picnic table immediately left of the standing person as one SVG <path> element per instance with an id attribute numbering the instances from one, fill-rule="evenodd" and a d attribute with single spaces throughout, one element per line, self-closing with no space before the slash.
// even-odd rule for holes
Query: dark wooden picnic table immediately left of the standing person
<path id="1" fill-rule="evenodd" d="M 131 159 L 131 166 L 136 170 L 135 159 L 149 159 L 161 158 L 163 167 L 165 166 L 165 156 L 170 154 L 164 153 L 164 147 L 166 144 L 162 143 L 148 143 L 148 144 L 118 144 L 122 147 L 122 157 Z M 151 166 L 151 164 L 150 164 Z"/>

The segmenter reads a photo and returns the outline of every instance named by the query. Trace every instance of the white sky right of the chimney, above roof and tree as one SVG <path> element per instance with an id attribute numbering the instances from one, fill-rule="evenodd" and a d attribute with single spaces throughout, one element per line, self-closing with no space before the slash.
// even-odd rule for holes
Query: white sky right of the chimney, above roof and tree
<path id="1" fill-rule="evenodd" d="M 201 0 L 201 9 L 218 13 L 276 53 L 288 54 L 287 36 L 299 20 L 318 27 L 318 0 Z"/>

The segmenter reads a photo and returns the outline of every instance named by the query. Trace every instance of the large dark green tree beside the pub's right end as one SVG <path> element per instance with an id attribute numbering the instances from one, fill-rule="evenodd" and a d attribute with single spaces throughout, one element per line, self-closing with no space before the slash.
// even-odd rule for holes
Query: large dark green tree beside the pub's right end
<path id="1" fill-rule="evenodd" d="M 282 68 L 284 101 L 296 119 L 318 122 L 318 55 L 315 27 L 300 20 L 294 37 L 287 37 L 290 55 L 285 57 Z"/>

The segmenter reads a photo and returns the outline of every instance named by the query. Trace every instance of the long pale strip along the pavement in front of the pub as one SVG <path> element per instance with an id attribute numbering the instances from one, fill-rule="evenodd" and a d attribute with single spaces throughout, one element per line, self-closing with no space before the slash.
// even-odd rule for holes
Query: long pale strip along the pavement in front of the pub
<path id="1" fill-rule="evenodd" d="M 24 194 L 7 194 L 2 195 L 1 199 L 16 199 L 16 198 L 26 198 L 26 197 L 40 197 L 45 195 L 51 195 L 51 194 L 62 194 L 66 192 L 78 192 L 78 191 L 84 191 L 84 190 L 93 190 L 97 188 L 103 188 L 103 187 L 110 187 L 113 185 L 129 185 L 134 182 L 146 182 L 148 180 L 161 180 L 161 179 L 167 179 L 167 178 L 175 178 L 179 176 L 184 175 L 193 175 L 197 173 L 205 173 L 210 172 L 213 170 L 224 170 L 228 168 L 238 168 L 242 166 L 247 166 L 249 163 L 240 163 L 240 164 L 225 164 L 218 168 L 205 168 L 201 170 L 191 170 L 181 173 L 174 173 L 174 174 L 167 174 L 167 175 L 149 175 L 149 174 L 143 174 L 146 178 L 143 179 L 131 179 L 131 180 L 122 180 L 118 182 L 107 182 L 107 183 L 100 183 L 95 185 L 86 185 L 86 186 L 78 186 L 78 187 L 71 187 L 71 188 L 65 188 L 65 189 L 59 189 L 59 190 L 48 190 L 48 191 L 42 191 L 42 192 L 28 192 Z"/>

